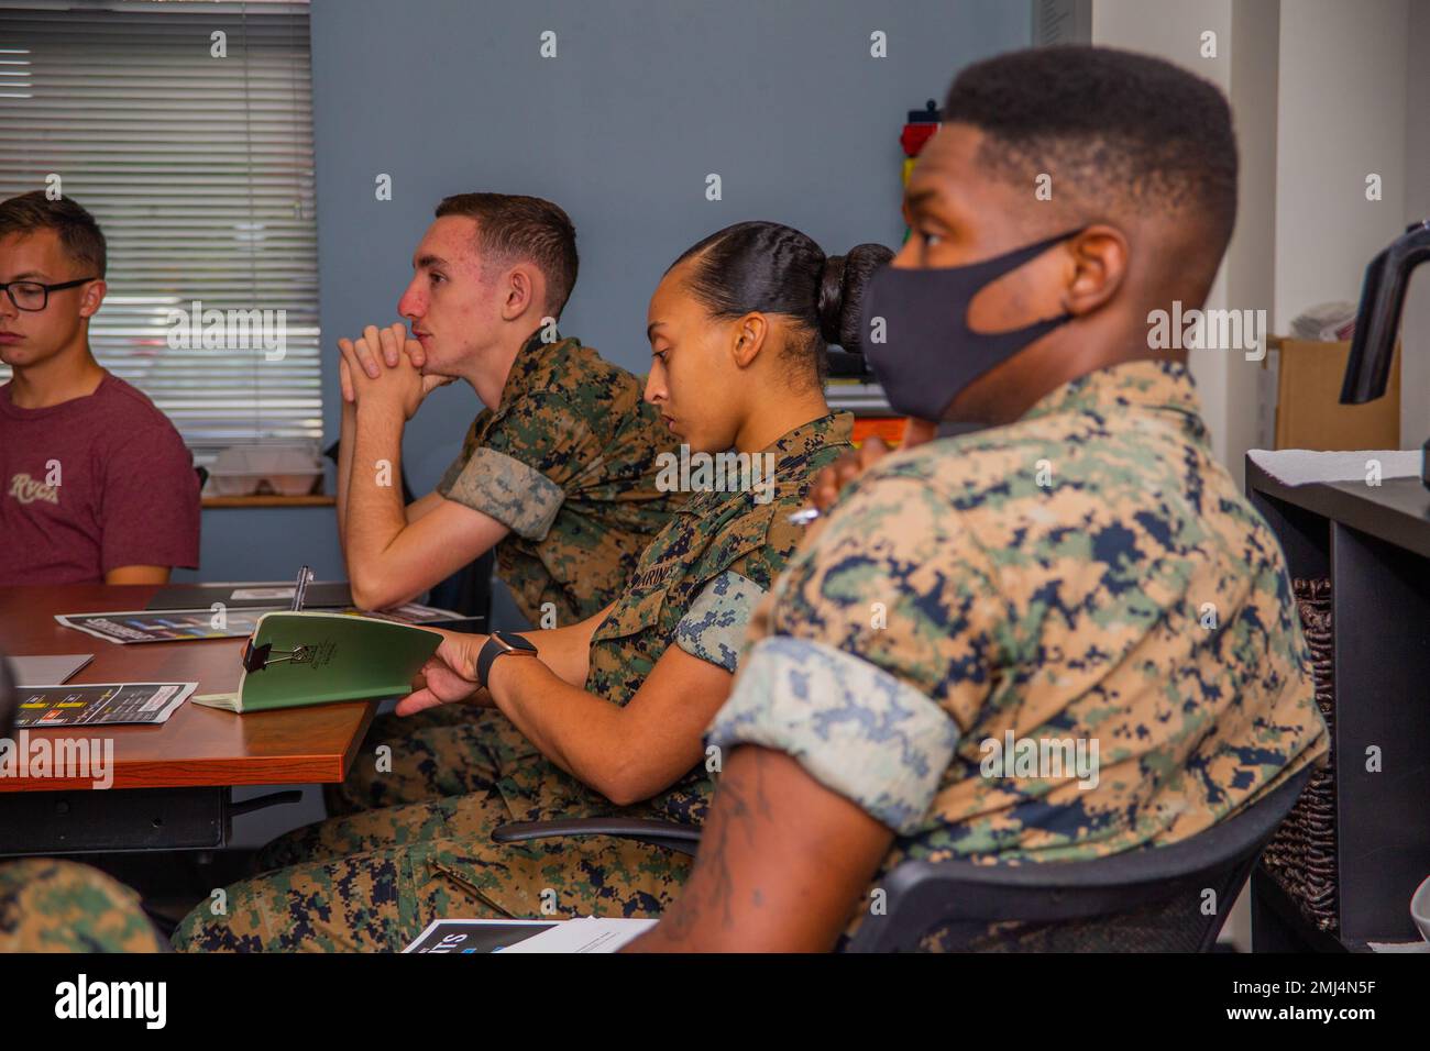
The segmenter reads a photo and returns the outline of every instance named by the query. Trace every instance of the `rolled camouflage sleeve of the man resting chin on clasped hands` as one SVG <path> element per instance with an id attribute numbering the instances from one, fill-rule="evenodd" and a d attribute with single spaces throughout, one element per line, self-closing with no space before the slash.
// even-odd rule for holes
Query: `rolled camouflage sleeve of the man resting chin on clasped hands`
<path id="1" fill-rule="evenodd" d="M 578 472 L 601 462 L 589 423 L 559 395 L 523 396 L 476 435 L 438 492 L 533 542 L 546 538 Z"/>

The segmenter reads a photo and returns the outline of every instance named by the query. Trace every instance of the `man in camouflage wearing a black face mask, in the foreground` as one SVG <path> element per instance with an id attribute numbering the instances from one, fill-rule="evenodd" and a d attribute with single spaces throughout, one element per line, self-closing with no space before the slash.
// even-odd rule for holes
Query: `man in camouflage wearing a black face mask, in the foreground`
<path id="1" fill-rule="evenodd" d="M 1148 312 L 1200 306 L 1231 235 L 1224 99 L 1050 47 L 965 70 L 944 120 L 869 289 L 871 356 L 895 408 L 990 429 L 879 460 L 797 555 L 708 736 L 699 859 L 632 948 L 828 949 L 905 858 L 1171 844 L 1327 751 L 1276 536 L 1183 355 L 1148 347 Z M 1010 738 L 1097 764 L 1004 766 Z"/>

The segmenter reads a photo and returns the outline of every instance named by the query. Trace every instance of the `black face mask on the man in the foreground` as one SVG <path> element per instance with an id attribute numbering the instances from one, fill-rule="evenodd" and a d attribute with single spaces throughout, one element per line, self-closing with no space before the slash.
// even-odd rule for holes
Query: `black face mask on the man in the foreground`
<path id="1" fill-rule="evenodd" d="M 1011 332 L 974 332 L 968 307 L 984 286 L 1040 256 L 1078 230 L 1040 240 L 968 266 L 909 270 L 884 266 L 864 293 L 864 332 L 882 317 L 885 342 L 864 355 L 884 386 L 889 408 L 905 416 L 940 420 L 960 392 L 1072 315 L 1034 322 Z"/>

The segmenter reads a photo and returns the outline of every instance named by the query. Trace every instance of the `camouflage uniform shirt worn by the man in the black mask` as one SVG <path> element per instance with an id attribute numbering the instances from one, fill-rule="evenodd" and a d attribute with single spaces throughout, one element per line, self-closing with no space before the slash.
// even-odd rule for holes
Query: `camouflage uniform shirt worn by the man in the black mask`
<path id="1" fill-rule="evenodd" d="M 892 828 L 871 889 L 907 858 L 1180 841 L 1328 748 L 1280 545 L 1174 362 L 882 460 L 749 639 L 708 741 L 784 751 Z M 1095 745 L 1095 785 L 1000 769 L 1008 734 L 1014 758 L 1020 739 Z"/>

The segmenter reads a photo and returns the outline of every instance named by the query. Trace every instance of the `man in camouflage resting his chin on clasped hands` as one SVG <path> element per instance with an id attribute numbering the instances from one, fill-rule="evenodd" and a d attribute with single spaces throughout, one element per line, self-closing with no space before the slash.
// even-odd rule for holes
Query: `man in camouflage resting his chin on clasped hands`
<path id="1" fill-rule="evenodd" d="M 669 520 L 679 496 L 656 489 L 655 460 L 675 443 L 641 382 L 556 333 L 576 263 L 551 202 L 448 197 L 398 303 L 413 339 L 399 322 L 339 340 L 337 528 L 358 605 L 408 602 L 496 548 L 528 621 L 575 623 L 621 593 Z M 488 408 L 436 490 L 403 508 L 403 428 L 453 379 Z"/>

